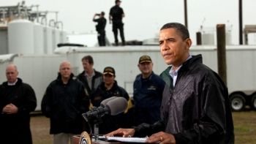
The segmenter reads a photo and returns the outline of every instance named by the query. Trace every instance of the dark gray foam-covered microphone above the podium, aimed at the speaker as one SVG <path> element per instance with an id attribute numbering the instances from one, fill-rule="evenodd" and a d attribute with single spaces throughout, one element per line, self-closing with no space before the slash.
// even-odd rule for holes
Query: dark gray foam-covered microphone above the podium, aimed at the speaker
<path id="1" fill-rule="evenodd" d="M 124 97 L 110 97 L 100 103 L 99 107 L 94 107 L 87 113 L 83 113 L 83 117 L 86 118 L 101 118 L 103 115 L 118 115 L 123 113 L 127 109 L 127 99 Z"/>

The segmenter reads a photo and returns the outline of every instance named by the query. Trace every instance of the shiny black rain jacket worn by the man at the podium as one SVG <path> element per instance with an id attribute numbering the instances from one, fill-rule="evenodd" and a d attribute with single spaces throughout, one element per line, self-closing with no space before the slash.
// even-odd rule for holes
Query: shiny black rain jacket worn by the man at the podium
<path id="1" fill-rule="evenodd" d="M 135 127 L 135 135 L 164 131 L 176 143 L 233 144 L 233 118 L 227 87 L 219 75 L 192 56 L 178 71 L 176 86 L 167 85 L 162 99 L 162 120 Z"/>

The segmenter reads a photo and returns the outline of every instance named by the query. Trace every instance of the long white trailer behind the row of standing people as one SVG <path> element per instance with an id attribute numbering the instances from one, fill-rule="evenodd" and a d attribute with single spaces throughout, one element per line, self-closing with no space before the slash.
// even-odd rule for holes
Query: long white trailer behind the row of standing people
<path id="1" fill-rule="evenodd" d="M 203 63 L 217 72 L 216 46 L 192 46 L 192 55 L 202 54 Z M 12 55 L 12 58 L 1 61 L 0 82 L 6 80 L 5 67 L 13 62 L 18 66 L 19 76 L 29 83 L 37 94 L 37 109 L 40 110 L 42 96 L 50 81 L 56 79 L 61 61 L 72 63 L 73 73 L 83 71 L 81 58 L 91 55 L 94 68 L 102 72 L 104 67 L 116 69 L 118 85 L 124 87 L 132 96 L 132 84 L 138 75 L 138 58 L 142 55 L 151 56 L 154 72 L 160 74 L 167 65 L 159 53 L 159 46 L 124 46 L 94 48 L 57 48 L 56 54 L 45 55 Z M 233 110 L 243 110 L 246 105 L 256 108 L 256 46 L 227 46 L 227 87 L 230 92 Z"/>

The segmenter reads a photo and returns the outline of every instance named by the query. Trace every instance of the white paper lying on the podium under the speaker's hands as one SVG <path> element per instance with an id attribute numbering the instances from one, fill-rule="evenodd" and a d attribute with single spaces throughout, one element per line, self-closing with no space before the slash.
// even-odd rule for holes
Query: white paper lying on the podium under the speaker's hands
<path id="1" fill-rule="evenodd" d="M 148 137 L 104 137 L 99 136 L 99 139 L 116 140 L 124 143 L 146 143 Z"/>

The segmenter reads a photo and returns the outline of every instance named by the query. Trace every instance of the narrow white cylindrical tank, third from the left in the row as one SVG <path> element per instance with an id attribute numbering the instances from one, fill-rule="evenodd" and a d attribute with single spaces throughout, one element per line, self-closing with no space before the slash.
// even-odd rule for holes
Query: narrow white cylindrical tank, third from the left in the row
<path id="1" fill-rule="evenodd" d="M 53 53 L 53 28 L 45 26 L 45 53 Z"/>

